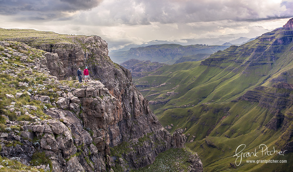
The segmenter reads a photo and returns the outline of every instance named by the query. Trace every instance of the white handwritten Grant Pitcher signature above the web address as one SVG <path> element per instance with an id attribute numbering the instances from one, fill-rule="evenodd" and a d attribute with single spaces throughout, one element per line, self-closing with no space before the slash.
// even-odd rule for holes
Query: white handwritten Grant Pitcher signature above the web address
<path id="1" fill-rule="evenodd" d="M 284 155 L 284 152 L 286 151 L 275 151 L 275 147 L 273 147 L 273 150 L 272 151 L 269 151 L 269 147 L 267 147 L 267 145 L 265 144 L 261 144 L 258 146 L 259 150 L 260 151 L 256 151 L 256 148 L 254 149 L 254 152 L 242 152 L 244 149 L 245 149 L 246 145 L 245 144 L 242 144 L 242 145 L 239 145 L 235 151 L 235 155 L 234 156 L 237 156 L 236 160 L 235 160 L 235 164 L 237 165 L 237 160 L 238 158 L 240 159 L 240 162 L 237 166 L 239 166 L 241 164 L 241 161 L 242 161 L 242 157 L 245 158 L 245 157 L 251 157 L 251 156 L 263 156 L 263 155 Z M 242 148 L 242 149 L 241 149 Z M 234 157 L 233 156 L 233 157 Z"/>

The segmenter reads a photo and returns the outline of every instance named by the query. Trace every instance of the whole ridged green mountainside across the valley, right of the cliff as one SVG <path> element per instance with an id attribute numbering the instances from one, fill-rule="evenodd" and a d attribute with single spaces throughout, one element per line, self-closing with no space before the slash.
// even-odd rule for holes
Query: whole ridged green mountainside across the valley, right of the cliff
<path id="1" fill-rule="evenodd" d="M 170 132 L 185 128 L 187 146 L 198 152 L 204 171 L 291 171 L 292 23 L 204 61 L 164 66 L 157 69 L 160 73 L 133 78 L 164 127 Z M 261 144 L 287 151 L 284 156 L 245 157 L 237 166 L 233 155 L 241 144 L 245 152 L 259 150 Z M 287 163 L 246 162 L 269 159 Z"/>

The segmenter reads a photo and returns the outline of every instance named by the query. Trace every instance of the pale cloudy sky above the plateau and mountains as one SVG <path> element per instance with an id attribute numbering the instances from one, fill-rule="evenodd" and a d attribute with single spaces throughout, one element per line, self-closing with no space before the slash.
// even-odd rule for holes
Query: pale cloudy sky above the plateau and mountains
<path id="1" fill-rule="evenodd" d="M 0 0 L 0 27 L 98 35 L 110 51 L 153 40 L 212 44 L 282 27 L 292 1 Z"/>

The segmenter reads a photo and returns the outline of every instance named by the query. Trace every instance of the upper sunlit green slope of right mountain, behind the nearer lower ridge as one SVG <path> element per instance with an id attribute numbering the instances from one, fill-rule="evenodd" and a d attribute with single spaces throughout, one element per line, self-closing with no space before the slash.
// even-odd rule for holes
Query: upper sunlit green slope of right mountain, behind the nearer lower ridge
<path id="1" fill-rule="evenodd" d="M 282 41 L 292 39 L 291 32 L 274 30 L 247 44 L 218 51 L 200 65 L 199 62 L 185 62 L 162 67 L 151 76 L 134 78 L 134 83 L 145 96 L 155 94 L 147 97 L 149 100 L 170 99 L 164 104 L 151 105 L 158 115 L 163 109 L 176 106 L 228 102 L 279 77 L 283 73 L 281 70 L 292 68 L 293 44 Z M 289 82 L 291 80 L 289 78 Z M 166 94 L 173 91 L 171 95 Z"/>

